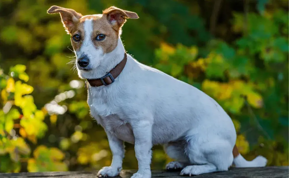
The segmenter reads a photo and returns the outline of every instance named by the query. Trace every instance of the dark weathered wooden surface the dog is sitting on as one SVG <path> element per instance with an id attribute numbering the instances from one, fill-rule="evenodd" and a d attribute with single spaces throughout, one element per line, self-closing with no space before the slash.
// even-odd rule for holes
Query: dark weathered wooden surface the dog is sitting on
<path id="1" fill-rule="evenodd" d="M 225 172 L 215 172 L 194 176 L 194 178 L 283 178 L 288 177 L 288 166 L 282 167 L 263 167 L 263 168 L 232 168 Z M 130 178 L 136 171 L 123 170 L 120 176 L 122 178 Z M 152 171 L 152 177 L 168 177 L 183 178 L 179 175 L 179 171 L 169 172 L 165 170 Z M 42 178 L 97 178 L 97 171 L 68 171 L 68 172 L 36 172 L 36 173 L 4 173 L 0 174 L 0 178 L 25 178 L 25 177 L 42 177 Z"/>

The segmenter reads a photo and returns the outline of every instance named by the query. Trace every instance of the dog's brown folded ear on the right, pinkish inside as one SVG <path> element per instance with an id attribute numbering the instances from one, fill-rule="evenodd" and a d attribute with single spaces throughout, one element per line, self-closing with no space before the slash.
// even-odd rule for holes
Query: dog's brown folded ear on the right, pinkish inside
<path id="1" fill-rule="evenodd" d="M 102 14 L 107 16 L 107 20 L 113 25 L 113 28 L 117 30 L 123 26 L 127 18 L 139 18 L 135 12 L 119 9 L 114 6 L 105 9 L 102 11 Z"/>

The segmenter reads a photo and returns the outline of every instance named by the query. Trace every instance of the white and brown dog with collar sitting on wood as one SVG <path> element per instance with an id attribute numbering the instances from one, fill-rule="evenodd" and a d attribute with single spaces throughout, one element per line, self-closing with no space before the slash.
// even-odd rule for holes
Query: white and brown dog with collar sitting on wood
<path id="1" fill-rule="evenodd" d="M 88 81 L 91 116 L 104 128 L 112 163 L 97 176 L 117 176 L 122 169 L 124 144 L 134 144 L 138 171 L 132 178 L 151 177 L 152 145 L 163 144 L 175 161 L 166 169 L 180 175 L 227 171 L 236 167 L 266 166 L 266 158 L 252 161 L 239 154 L 236 131 L 222 107 L 201 90 L 126 54 L 121 28 L 137 13 L 109 7 L 102 14 L 81 15 L 52 6 L 71 35 L 78 76 Z"/>

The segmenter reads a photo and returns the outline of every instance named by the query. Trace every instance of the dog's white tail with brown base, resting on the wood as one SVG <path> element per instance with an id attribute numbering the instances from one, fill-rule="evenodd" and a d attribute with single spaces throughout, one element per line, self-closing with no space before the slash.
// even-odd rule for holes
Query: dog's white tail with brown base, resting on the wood
<path id="1" fill-rule="evenodd" d="M 255 159 L 251 161 L 245 160 L 243 156 L 239 153 L 238 148 L 236 145 L 233 148 L 233 164 L 235 164 L 235 167 L 264 167 L 267 164 L 267 159 L 263 156 L 257 156 Z"/>

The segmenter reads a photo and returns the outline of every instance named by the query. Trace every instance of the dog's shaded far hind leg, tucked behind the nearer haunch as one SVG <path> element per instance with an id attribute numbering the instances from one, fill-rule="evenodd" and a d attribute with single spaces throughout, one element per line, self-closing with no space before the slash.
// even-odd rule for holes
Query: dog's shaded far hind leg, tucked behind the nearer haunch
<path id="1" fill-rule="evenodd" d="M 185 144 L 186 142 L 181 140 L 176 142 L 169 142 L 164 145 L 164 150 L 167 155 L 175 160 L 166 165 L 167 170 L 182 169 L 189 165 L 189 158 L 185 154 Z"/>

